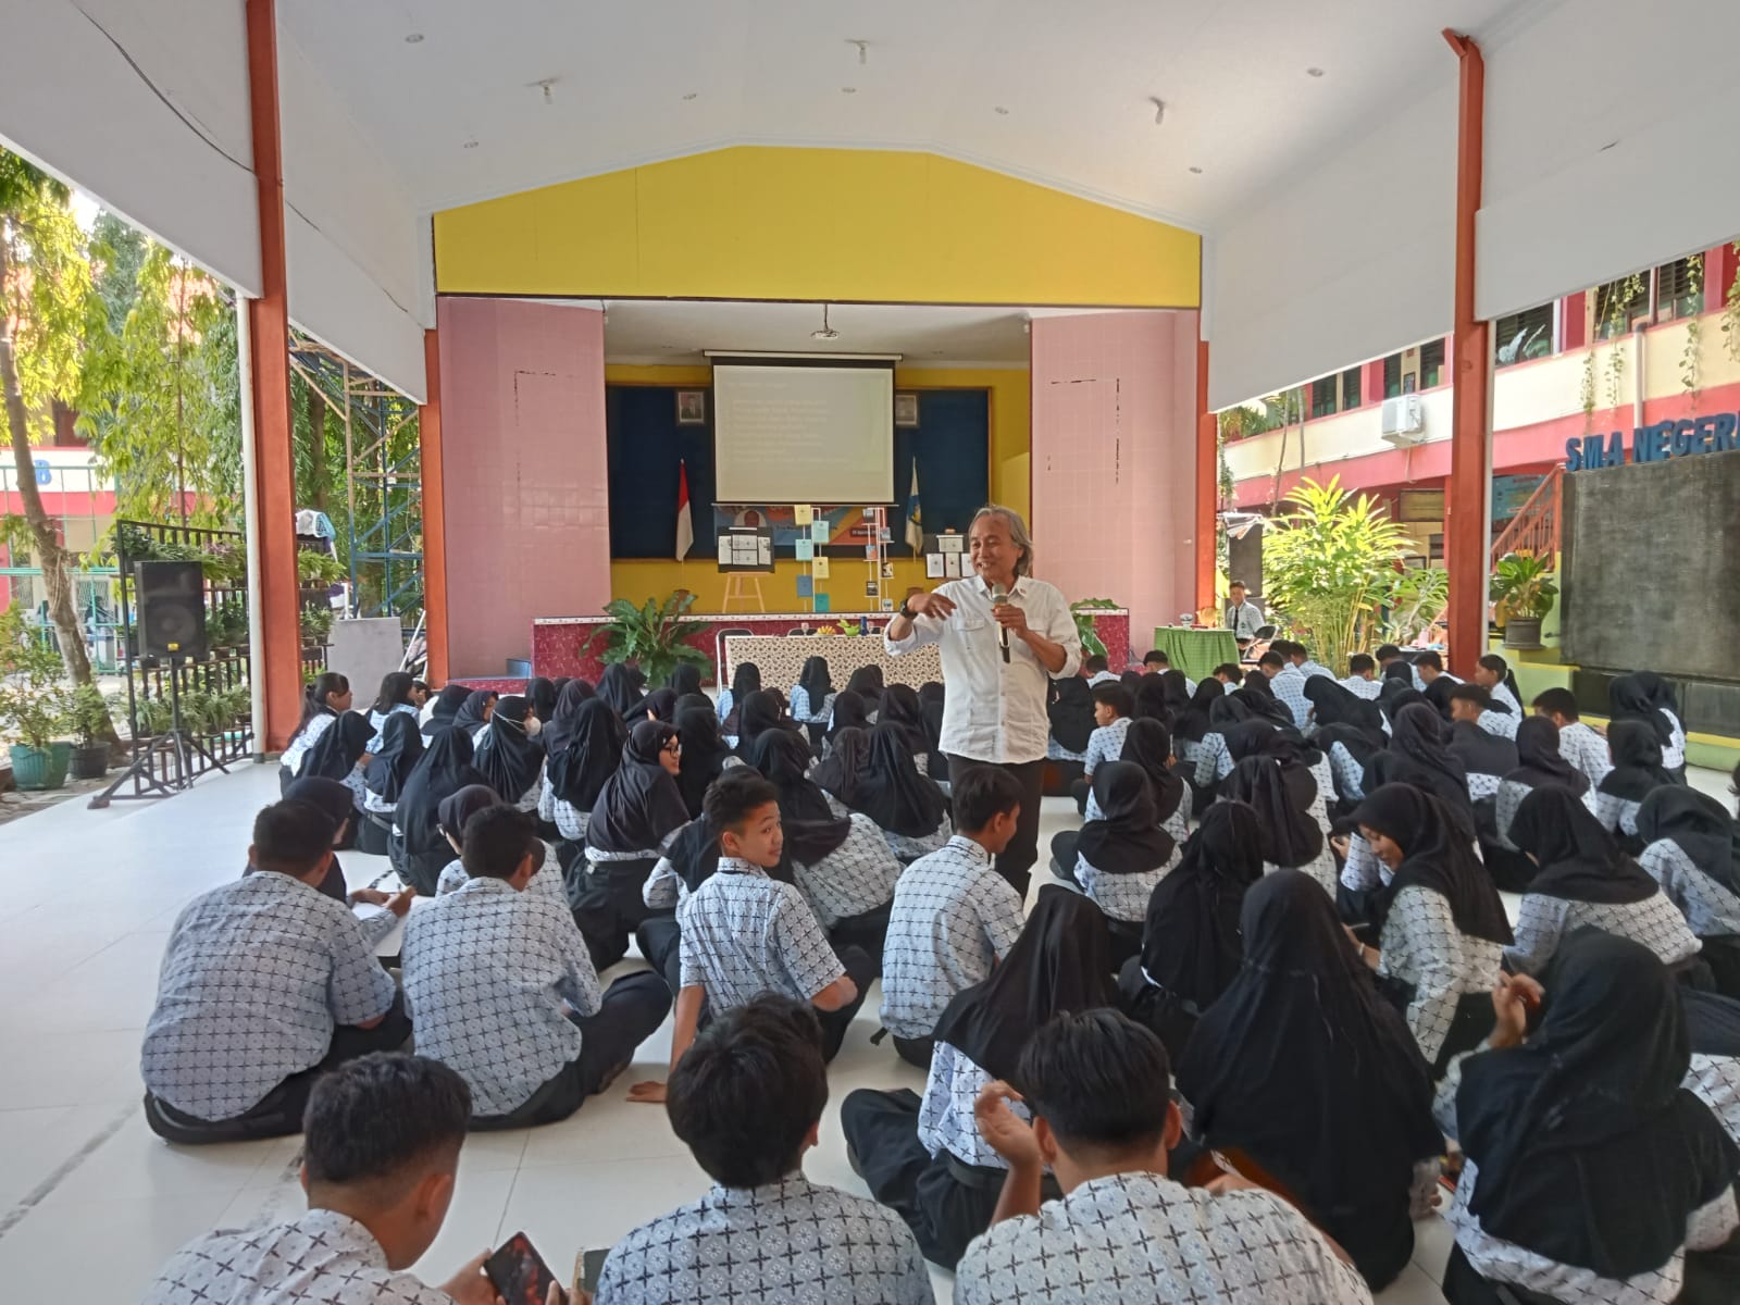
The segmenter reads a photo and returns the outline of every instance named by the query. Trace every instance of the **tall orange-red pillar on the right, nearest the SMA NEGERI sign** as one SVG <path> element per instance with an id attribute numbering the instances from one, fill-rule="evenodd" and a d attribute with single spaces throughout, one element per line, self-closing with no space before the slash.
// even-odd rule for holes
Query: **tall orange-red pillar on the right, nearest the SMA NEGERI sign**
<path id="1" fill-rule="evenodd" d="M 1467 675 L 1486 652 L 1486 566 L 1491 480 L 1493 351 L 1474 313 L 1474 216 L 1481 211 L 1486 63 L 1467 37 L 1444 30 L 1462 63 L 1456 111 L 1456 310 L 1451 334 L 1449 492 L 1444 559 L 1449 567 L 1449 659 Z"/>

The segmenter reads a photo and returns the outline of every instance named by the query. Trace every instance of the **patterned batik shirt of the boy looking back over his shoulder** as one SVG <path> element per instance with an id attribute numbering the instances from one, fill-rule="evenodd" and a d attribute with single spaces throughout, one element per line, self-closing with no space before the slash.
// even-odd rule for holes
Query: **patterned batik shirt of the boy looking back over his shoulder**
<path id="1" fill-rule="evenodd" d="M 804 894 L 759 865 L 720 856 L 677 907 L 682 987 L 699 985 L 713 1014 L 764 992 L 811 1000 L 846 973 Z"/>

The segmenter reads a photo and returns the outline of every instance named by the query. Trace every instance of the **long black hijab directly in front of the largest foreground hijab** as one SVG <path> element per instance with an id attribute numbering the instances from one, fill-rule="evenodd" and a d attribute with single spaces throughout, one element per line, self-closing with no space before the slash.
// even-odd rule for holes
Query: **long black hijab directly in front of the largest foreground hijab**
<path id="1" fill-rule="evenodd" d="M 1183 860 L 1154 886 L 1141 927 L 1141 969 L 1199 1011 L 1239 973 L 1239 905 L 1263 877 L 1262 821 L 1244 802 L 1216 802 Z"/>

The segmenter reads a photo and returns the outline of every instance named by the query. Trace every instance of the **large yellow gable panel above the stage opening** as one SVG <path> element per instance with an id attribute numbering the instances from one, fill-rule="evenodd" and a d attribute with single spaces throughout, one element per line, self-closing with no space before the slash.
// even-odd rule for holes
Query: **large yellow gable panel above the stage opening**
<path id="1" fill-rule="evenodd" d="M 444 294 L 1195 308 L 1201 242 L 952 158 L 734 146 L 435 214 Z"/>

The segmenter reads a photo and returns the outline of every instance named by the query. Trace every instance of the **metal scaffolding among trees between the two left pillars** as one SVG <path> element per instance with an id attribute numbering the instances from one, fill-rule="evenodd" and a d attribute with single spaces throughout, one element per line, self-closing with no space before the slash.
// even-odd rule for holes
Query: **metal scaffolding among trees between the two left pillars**
<path id="1" fill-rule="evenodd" d="M 418 405 L 306 336 L 291 341 L 291 365 L 345 425 L 345 529 L 353 614 L 419 616 L 423 472 Z"/>

